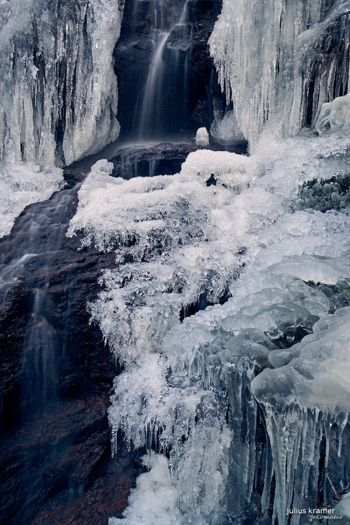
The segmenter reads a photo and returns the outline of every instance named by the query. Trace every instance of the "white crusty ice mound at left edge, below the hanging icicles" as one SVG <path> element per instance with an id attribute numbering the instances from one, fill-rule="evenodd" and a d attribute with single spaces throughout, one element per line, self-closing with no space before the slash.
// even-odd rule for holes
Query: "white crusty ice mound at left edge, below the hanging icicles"
<path id="1" fill-rule="evenodd" d="M 10 233 L 28 204 L 46 201 L 63 185 L 63 171 L 54 166 L 0 165 L 0 238 Z"/>

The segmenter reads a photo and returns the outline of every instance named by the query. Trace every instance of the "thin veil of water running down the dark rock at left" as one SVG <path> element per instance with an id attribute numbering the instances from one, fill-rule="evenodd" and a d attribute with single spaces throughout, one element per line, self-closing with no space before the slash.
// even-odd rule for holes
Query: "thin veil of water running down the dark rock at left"
<path id="1" fill-rule="evenodd" d="M 29 414 L 58 394 L 58 371 L 65 354 L 65 341 L 55 327 L 55 302 L 50 291 L 52 271 L 66 245 L 69 214 L 74 213 L 80 182 L 56 193 L 32 208 L 17 235 L 15 250 L 6 250 L 4 238 L 0 263 L 2 307 L 14 286 L 26 283 L 28 327 L 23 341 L 19 413 Z M 18 230 L 17 230 L 18 231 Z M 9 407 L 6 406 L 6 413 Z"/>

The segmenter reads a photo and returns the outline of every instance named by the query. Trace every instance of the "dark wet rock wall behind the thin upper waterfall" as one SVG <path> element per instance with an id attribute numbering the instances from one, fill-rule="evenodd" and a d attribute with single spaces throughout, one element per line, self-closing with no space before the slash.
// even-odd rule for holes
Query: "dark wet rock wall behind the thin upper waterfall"
<path id="1" fill-rule="evenodd" d="M 137 137 L 140 124 L 142 97 L 155 46 L 153 4 L 151 0 L 126 0 L 121 37 L 114 49 L 118 119 L 123 137 Z M 162 51 L 162 90 L 150 121 L 150 131 L 160 138 L 193 132 L 203 125 L 210 127 L 213 101 L 225 108 L 226 100 L 218 87 L 207 45 L 221 1 L 188 0 L 183 24 L 178 22 L 184 1 L 159 0 L 157 4 L 162 12 L 161 29 L 169 33 Z"/>

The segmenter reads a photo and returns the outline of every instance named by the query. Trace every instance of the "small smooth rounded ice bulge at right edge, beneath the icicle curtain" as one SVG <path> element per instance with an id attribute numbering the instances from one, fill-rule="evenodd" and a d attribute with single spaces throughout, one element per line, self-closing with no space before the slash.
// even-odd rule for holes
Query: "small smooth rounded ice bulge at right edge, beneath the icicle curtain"
<path id="1" fill-rule="evenodd" d="M 315 122 L 315 130 L 320 134 L 350 128 L 350 93 L 323 104 Z"/>

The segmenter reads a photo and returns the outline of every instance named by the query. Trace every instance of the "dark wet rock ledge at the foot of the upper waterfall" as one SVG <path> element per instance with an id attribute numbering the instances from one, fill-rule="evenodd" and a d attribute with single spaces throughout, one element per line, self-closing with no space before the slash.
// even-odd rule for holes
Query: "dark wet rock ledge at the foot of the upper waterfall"
<path id="1" fill-rule="evenodd" d="M 214 143 L 208 146 L 198 146 L 194 143 L 171 144 L 164 142 L 151 148 L 123 148 L 110 162 L 113 162 L 112 175 L 129 180 L 133 177 L 149 177 L 154 175 L 174 175 L 179 173 L 181 165 L 192 151 L 198 149 L 222 150 L 222 146 Z M 230 151 L 244 154 L 247 152 L 247 143 L 236 144 Z"/>

